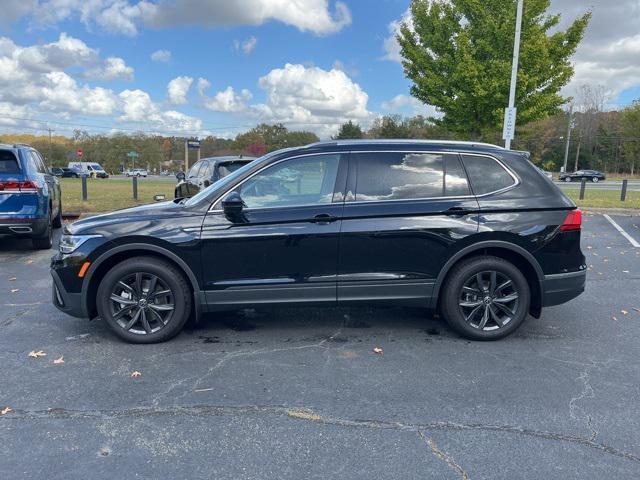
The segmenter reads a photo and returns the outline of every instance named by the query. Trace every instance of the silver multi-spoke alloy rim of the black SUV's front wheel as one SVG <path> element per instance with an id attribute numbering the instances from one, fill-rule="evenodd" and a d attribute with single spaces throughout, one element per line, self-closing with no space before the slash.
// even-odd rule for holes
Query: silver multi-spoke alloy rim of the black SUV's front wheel
<path id="1" fill-rule="evenodd" d="M 157 275 L 137 272 L 116 282 L 109 306 L 118 325 L 134 334 L 148 335 L 164 328 L 175 310 L 173 292 Z"/>

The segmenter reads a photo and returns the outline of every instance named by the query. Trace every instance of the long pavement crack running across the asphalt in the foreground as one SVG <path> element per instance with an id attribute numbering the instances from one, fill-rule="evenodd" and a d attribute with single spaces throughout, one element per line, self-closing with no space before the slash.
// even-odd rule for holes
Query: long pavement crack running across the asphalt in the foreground
<path id="1" fill-rule="evenodd" d="M 391 429 L 409 432 L 427 431 L 483 431 L 509 433 L 533 437 L 541 440 L 571 443 L 597 450 L 601 453 L 612 455 L 618 458 L 640 463 L 640 456 L 634 453 L 625 452 L 611 445 L 600 443 L 591 437 L 578 435 L 568 435 L 544 430 L 534 430 L 517 425 L 500 425 L 486 423 L 456 423 L 456 422 L 429 422 L 429 423 L 409 423 L 392 422 L 388 420 L 376 419 L 346 419 L 331 416 L 322 416 L 314 410 L 303 407 L 290 407 L 284 405 L 169 405 L 165 407 L 143 406 L 125 409 L 98 409 L 98 410 L 72 410 L 65 408 L 51 408 L 46 410 L 14 410 L 3 417 L 0 417 L 0 426 L 3 422 L 20 420 L 46 420 L 46 419 L 123 419 L 123 418 L 145 418 L 162 416 L 222 416 L 222 415 L 251 415 L 251 414 L 271 414 L 288 417 L 296 421 L 309 421 L 322 425 L 332 425 L 345 428 L 371 428 L 371 429 Z"/>

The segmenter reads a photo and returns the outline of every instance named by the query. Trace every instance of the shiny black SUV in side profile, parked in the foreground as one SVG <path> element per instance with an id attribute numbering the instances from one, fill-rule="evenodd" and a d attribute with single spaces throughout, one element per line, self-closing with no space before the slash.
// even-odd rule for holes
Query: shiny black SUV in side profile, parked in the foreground
<path id="1" fill-rule="evenodd" d="M 420 306 L 468 338 L 497 339 L 584 291 L 581 220 L 523 152 L 317 143 L 186 201 L 67 225 L 53 302 L 137 343 L 203 312 L 274 304 Z"/>

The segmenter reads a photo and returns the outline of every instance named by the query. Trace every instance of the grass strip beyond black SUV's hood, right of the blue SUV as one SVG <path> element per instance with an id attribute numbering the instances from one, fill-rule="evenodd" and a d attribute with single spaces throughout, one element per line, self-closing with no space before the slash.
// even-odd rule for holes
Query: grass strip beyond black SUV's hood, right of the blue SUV
<path id="1" fill-rule="evenodd" d="M 87 179 L 87 198 L 82 201 L 82 180 L 62 178 L 62 210 L 65 214 L 111 212 L 121 208 L 153 203 L 153 196 L 165 194 L 173 199 L 175 183 L 166 181 L 138 180 L 138 200 L 133 199 L 132 179 Z"/>

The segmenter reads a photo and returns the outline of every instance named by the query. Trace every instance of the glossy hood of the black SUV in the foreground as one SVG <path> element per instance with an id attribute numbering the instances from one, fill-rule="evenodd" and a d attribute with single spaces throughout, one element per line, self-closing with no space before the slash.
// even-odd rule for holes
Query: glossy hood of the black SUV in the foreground
<path id="1" fill-rule="evenodd" d="M 110 230 L 109 226 L 111 225 L 148 224 L 152 221 L 184 215 L 200 215 L 200 213 L 190 212 L 185 209 L 184 205 L 173 201 L 152 203 L 84 218 L 68 224 L 65 230 L 74 235 L 104 233 L 105 230 Z"/>

